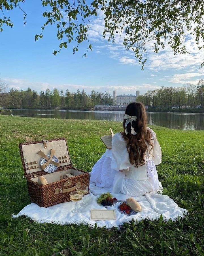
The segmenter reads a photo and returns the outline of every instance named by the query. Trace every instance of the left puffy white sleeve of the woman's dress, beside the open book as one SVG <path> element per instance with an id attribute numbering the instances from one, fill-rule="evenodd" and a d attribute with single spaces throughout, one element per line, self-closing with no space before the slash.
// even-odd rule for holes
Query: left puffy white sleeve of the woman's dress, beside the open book
<path id="1" fill-rule="evenodd" d="M 129 153 L 126 148 L 126 141 L 124 141 L 122 134 L 116 133 L 112 137 L 112 161 L 111 168 L 119 171 L 127 169 L 131 164 L 129 162 Z"/>

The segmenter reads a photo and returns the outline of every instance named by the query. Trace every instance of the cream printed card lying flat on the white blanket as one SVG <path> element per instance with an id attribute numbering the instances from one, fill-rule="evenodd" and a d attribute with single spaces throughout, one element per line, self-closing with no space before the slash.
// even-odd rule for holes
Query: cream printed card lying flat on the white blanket
<path id="1" fill-rule="evenodd" d="M 90 220 L 116 220 L 115 210 L 91 209 Z"/>

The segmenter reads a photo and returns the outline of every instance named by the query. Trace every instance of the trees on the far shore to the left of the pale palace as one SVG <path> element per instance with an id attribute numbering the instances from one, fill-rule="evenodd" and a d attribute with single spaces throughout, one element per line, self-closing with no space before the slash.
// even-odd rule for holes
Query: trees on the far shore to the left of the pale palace
<path id="1" fill-rule="evenodd" d="M 0 87 L 1 87 L 0 82 Z M 49 88 L 45 91 L 41 90 L 39 93 L 31 88 L 27 90 L 10 89 L 1 93 L 0 90 L 0 108 L 26 108 L 26 109 L 79 109 L 89 110 L 95 105 L 111 105 L 112 97 L 108 92 L 101 93 L 94 90 L 87 94 L 85 90 L 77 90 L 77 92 L 70 92 L 66 90 L 59 91 L 54 88 Z"/>

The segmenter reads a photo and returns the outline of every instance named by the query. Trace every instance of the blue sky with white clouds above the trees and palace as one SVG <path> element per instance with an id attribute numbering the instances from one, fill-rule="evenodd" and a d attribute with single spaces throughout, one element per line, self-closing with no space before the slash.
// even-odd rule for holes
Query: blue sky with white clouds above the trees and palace
<path id="1" fill-rule="evenodd" d="M 88 52 L 87 58 L 82 57 L 87 44 L 81 45 L 74 55 L 74 44 L 70 44 L 54 56 L 52 51 L 59 45 L 55 25 L 46 28 L 41 40 L 34 40 L 45 22 L 42 12 L 48 8 L 42 7 L 40 0 L 27 0 L 21 7 L 27 14 L 25 27 L 23 13 L 16 9 L 9 13 L 14 27 L 4 26 L 0 33 L 0 75 L 10 87 L 31 87 L 38 92 L 54 87 L 74 92 L 79 88 L 88 93 L 98 90 L 112 94 L 117 86 L 118 94 L 134 94 L 135 90 L 142 94 L 162 85 L 182 86 L 204 79 L 204 69 L 199 69 L 204 55 L 189 34 L 185 42 L 191 54 L 175 57 L 168 46 L 156 54 L 148 45 L 148 61 L 142 71 L 134 54 L 122 45 L 122 37 L 118 36 L 114 45 L 102 38 L 102 13 L 91 22 L 89 37 L 93 51 Z"/>

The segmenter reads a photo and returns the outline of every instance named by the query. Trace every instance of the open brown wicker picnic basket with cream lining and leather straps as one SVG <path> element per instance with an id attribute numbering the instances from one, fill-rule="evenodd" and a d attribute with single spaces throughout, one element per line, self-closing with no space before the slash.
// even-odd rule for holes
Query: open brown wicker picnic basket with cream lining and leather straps
<path id="1" fill-rule="evenodd" d="M 65 138 L 20 143 L 19 148 L 30 200 L 40 207 L 70 201 L 69 193 L 75 191 L 78 186 L 89 187 L 89 173 L 72 166 Z M 53 158 L 49 154 L 52 154 L 50 151 L 53 148 L 59 166 L 55 172 L 48 173 L 42 170 L 42 156 L 39 155 L 39 150 L 48 156 L 47 163 L 51 161 L 51 164 Z M 67 174 L 73 177 L 66 178 Z M 38 176 L 45 177 L 48 184 L 39 185 Z"/>

